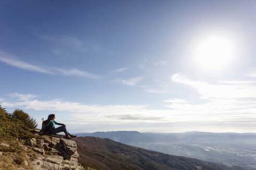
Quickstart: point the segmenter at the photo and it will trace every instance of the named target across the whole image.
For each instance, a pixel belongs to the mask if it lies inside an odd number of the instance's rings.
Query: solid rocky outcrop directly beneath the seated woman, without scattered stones
[[[30,163],[35,170],[61,170],[84,168],[78,163],[79,154],[75,141],[62,135],[43,135],[42,139],[30,139],[26,145],[37,152],[39,157]]]

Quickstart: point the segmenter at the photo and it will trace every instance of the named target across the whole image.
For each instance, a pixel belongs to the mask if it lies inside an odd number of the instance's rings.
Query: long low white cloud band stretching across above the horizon
[[[221,99],[203,104],[189,104],[175,99],[164,109],[150,109],[147,105],[86,105],[58,99],[40,101],[31,94],[15,94],[16,101],[1,102],[3,107],[69,112],[79,122],[104,123],[163,123],[163,122],[247,122],[256,121],[256,101]],[[35,95],[32,95],[35,96]],[[175,103],[174,103],[175,102]]]

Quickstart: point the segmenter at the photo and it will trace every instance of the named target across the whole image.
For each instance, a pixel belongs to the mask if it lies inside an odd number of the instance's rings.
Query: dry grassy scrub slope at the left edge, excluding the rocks
[[[11,170],[19,167],[32,169],[26,166],[25,162],[30,163],[38,155],[31,149],[24,150],[21,145],[24,145],[24,140],[33,137],[37,138],[36,135],[29,132],[28,127],[22,121],[12,118],[0,106],[0,144],[9,145],[0,145],[0,152],[3,153],[0,155],[0,169]]]

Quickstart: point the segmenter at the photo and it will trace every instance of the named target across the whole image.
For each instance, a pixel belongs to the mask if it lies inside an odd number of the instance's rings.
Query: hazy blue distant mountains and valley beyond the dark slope
[[[78,133],[78,136],[109,138],[123,144],[228,167],[256,169],[255,133],[139,133],[137,131]]]

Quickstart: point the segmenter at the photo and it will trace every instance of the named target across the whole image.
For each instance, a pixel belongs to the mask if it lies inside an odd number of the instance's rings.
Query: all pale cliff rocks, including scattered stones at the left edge
[[[17,139],[19,147],[27,153],[25,159],[19,158],[19,152],[13,155],[14,164],[18,170],[84,170],[78,163],[79,154],[75,141],[64,138],[63,135],[42,135],[28,140]],[[0,144],[6,148],[8,144]],[[0,157],[10,158],[8,152],[0,152]],[[0,169],[9,169],[1,167]],[[10,167],[11,169],[13,167]]]

